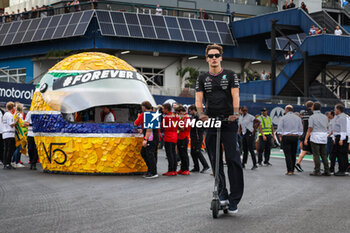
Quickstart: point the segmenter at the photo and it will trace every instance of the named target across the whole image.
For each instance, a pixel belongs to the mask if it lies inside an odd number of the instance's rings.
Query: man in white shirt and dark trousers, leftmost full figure
[[[15,120],[12,115],[12,110],[14,108],[13,102],[8,102],[6,104],[7,112],[2,117],[3,123],[3,132],[2,138],[4,139],[4,157],[3,164],[4,169],[15,169],[11,165],[11,157],[16,149],[16,141],[15,141],[15,125],[18,121],[18,118]]]

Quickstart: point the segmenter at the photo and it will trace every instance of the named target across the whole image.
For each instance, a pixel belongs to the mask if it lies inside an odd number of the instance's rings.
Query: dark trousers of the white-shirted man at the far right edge
[[[335,144],[333,145],[333,151],[332,151],[332,157],[333,161],[331,160],[331,169],[334,169],[335,166],[335,160],[338,159],[339,164],[339,171],[340,172],[346,172],[346,169],[348,168],[348,137],[346,137],[345,140],[343,140],[343,145],[339,145],[340,141],[340,135],[335,136]],[[332,167],[333,166],[333,167]]]

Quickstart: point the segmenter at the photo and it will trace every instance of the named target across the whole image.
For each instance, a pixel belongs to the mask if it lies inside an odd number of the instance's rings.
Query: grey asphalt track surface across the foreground
[[[286,176],[283,159],[271,163],[245,170],[238,214],[218,219],[211,172],[147,180],[1,169],[0,232],[350,232],[349,176],[310,177],[310,161]],[[160,150],[158,172],[166,167]]]

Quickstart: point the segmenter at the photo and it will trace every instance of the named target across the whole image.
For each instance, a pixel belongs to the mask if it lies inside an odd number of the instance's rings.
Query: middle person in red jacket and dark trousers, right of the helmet
[[[177,130],[178,125],[174,126],[171,122],[178,122],[179,118],[178,116],[171,112],[171,105],[169,103],[163,104],[163,113],[165,114],[162,123],[164,128],[164,146],[165,146],[165,153],[168,158],[168,171],[163,174],[163,176],[176,176],[176,168],[177,168],[177,161],[176,161],[176,152],[175,152],[175,146],[177,143]]]

